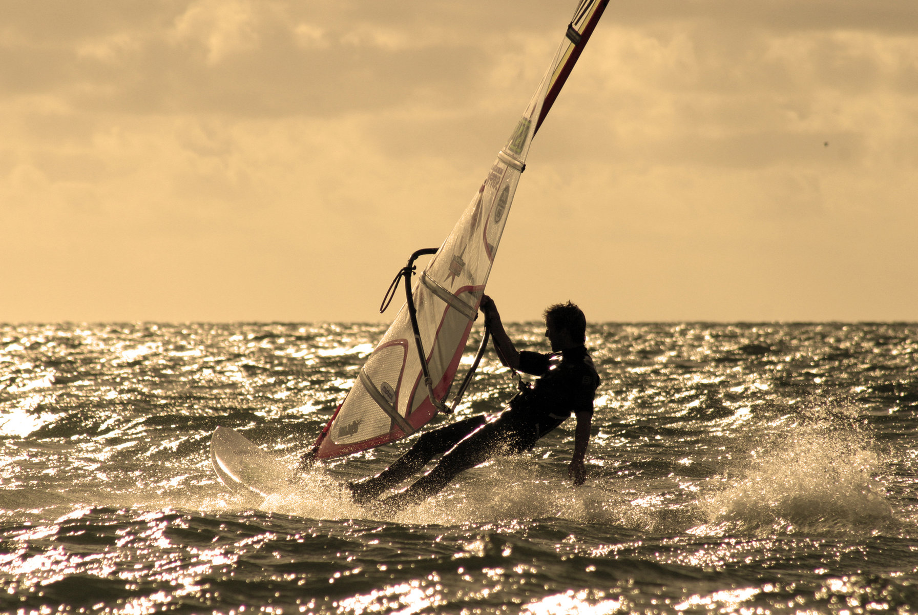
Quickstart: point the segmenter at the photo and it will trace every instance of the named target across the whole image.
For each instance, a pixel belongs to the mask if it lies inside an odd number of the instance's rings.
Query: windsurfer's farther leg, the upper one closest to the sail
[[[421,434],[418,442],[415,442],[408,453],[399,457],[394,464],[372,478],[349,484],[354,501],[363,504],[378,498],[386,489],[416,474],[431,459],[446,453],[456,442],[460,442],[484,424],[485,416],[479,415]]]

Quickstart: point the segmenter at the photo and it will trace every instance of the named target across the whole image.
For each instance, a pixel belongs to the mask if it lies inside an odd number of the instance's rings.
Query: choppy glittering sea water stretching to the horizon
[[[294,465],[382,330],[0,326],[0,611],[918,612],[918,325],[593,325],[585,486],[571,419],[394,517],[341,481],[409,442],[233,498],[211,432]]]

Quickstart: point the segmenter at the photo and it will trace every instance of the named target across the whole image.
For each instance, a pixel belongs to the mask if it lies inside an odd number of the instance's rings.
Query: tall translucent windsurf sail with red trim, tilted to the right
[[[393,442],[446,410],[532,138],[607,4],[608,0],[581,0],[577,5],[565,39],[484,183],[413,285],[415,309],[406,301],[367,357],[351,391],[319,435],[312,451],[315,458]],[[413,258],[409,271],[412,263]]]

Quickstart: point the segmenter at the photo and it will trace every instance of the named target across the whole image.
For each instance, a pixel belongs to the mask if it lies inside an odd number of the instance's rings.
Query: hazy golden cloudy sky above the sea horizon
[[[367,321],[574,0],[7,0],[0,322]],[[918,321],[918,3],[611,0],[532,144],[504,319]]]

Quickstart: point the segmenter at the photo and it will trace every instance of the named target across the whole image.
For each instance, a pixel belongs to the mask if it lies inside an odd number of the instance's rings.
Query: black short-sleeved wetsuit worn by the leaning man
[[[584,346],[551,354],[520,352],[520,371],[540,376],[532,388],[510,400],[497,419],[469,417],[428,431],[386,470],[351,485],[354,500],[369,502],[414,475],[433,457],[445,453],[427,475],[406,490],[380,502],[397,510],[417,504],[447,486],[453,477],[501,454],[522,453],[554,430],[571,413],[593,412],[599,375]]]

